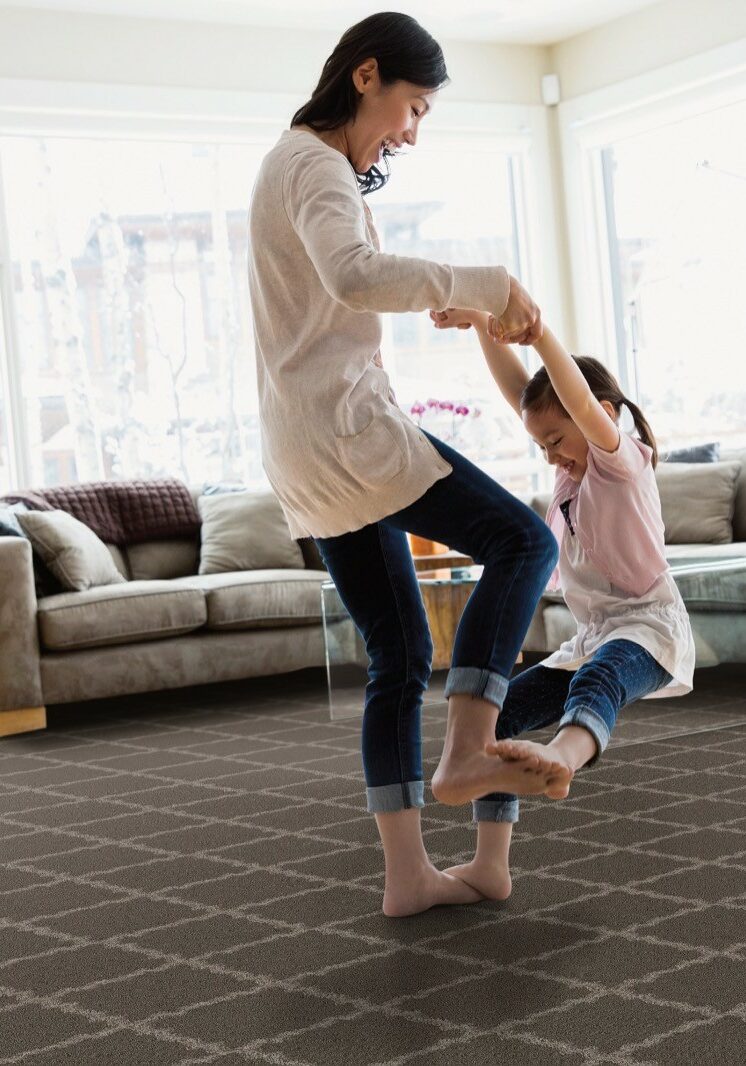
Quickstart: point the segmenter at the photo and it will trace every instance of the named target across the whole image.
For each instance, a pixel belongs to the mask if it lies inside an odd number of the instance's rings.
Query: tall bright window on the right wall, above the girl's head
[[[598,149],[622,387],[663,450],[746,445],[746,100]]]

